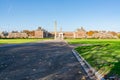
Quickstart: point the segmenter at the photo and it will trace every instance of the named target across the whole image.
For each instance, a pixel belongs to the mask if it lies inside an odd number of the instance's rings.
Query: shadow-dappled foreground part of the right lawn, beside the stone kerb
[[[120,77],[120,57],[117,56],[118,53],[115,53],[116,50],[119,50],[116,45],[80,46],[75,50],[105,78]]]

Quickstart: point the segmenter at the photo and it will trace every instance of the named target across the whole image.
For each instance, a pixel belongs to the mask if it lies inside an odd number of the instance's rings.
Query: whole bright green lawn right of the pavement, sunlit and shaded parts
[[[75,48],[100,74],[120,77],[120,39],[66,39],[69,44],[93,44]]]

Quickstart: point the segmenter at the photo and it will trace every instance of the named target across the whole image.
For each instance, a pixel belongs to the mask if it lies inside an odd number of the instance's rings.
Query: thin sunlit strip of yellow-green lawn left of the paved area
[[[49,39],[0,39],[0,45],[2,44],[20,44],[28,42],[37,42]]]

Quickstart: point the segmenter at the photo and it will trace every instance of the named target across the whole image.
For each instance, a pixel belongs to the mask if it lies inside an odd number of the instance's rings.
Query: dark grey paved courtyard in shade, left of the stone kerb
[[[84,77],[72,48],[65,42],[0,47],[0,80],[82,80]]]

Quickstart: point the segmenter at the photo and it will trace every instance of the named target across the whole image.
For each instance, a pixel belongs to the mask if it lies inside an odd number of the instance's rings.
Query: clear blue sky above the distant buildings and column
[[[0,0],[0,31],[106,30],[120,32],[120,0]]]

